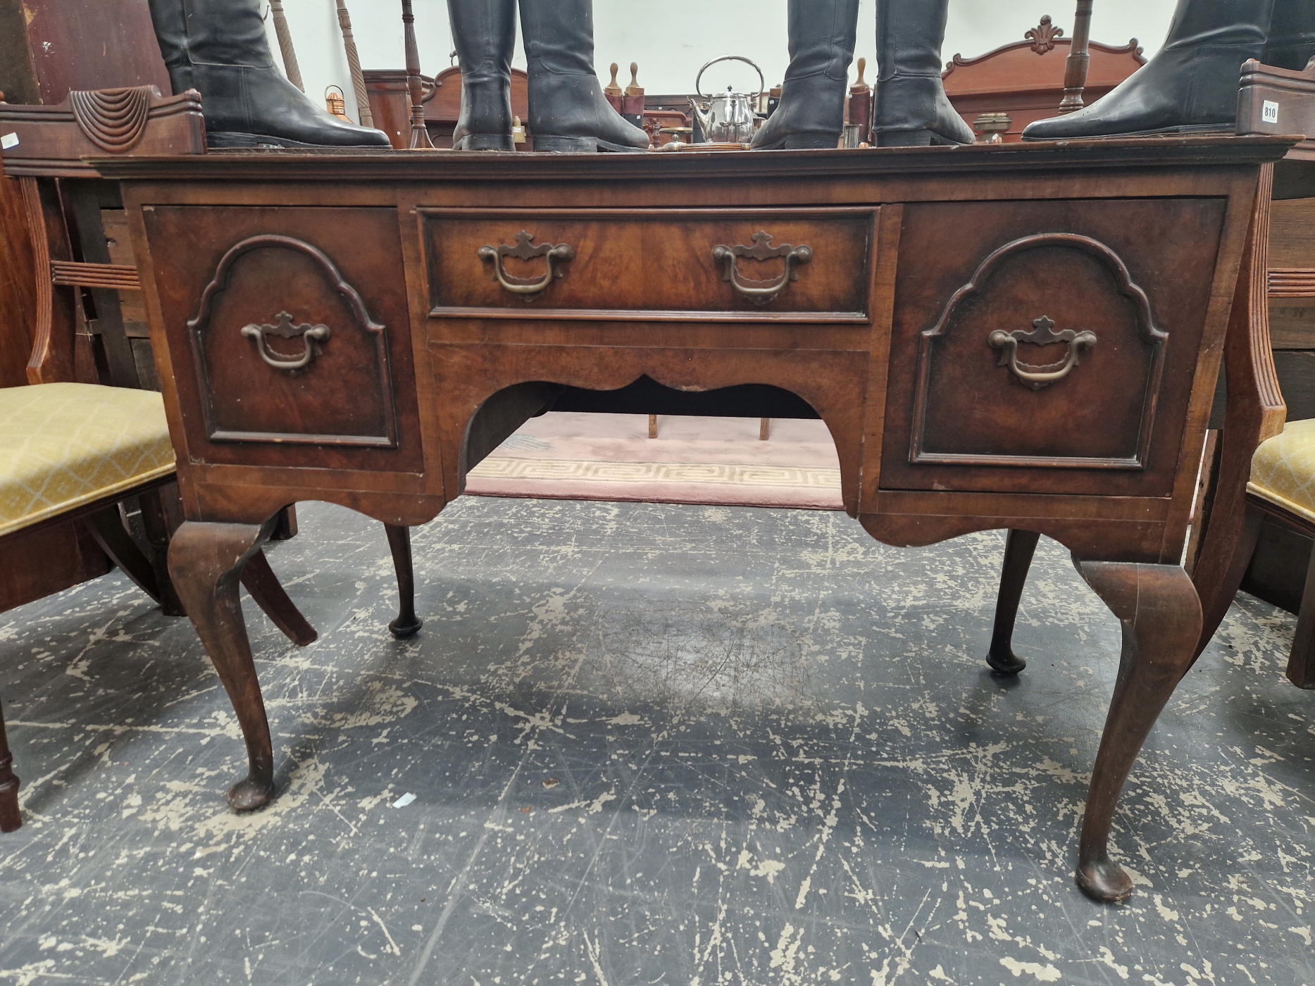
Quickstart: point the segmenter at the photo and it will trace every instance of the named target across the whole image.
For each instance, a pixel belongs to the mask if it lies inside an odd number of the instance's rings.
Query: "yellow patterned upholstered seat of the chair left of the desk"
[[[164,401],[153,390],[0,388],[0,535],[171,472]]]

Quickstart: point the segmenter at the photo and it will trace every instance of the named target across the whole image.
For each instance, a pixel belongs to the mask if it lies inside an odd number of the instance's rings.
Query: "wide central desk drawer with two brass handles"
[[[431,316],[869,318],[877,209],[419,209]]]

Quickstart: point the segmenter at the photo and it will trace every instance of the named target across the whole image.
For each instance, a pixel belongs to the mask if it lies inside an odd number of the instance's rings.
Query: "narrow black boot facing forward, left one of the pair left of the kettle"
[[[515,0],[447,0],[452,45],[462,66],[462,116],[452,130],[459,151],[514,151],[512,51]]]

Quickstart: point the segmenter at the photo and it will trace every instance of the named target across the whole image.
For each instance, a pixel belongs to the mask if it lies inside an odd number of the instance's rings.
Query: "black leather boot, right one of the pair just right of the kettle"
[[[973,143],[940,83],[949,0],[877,0],[878,147]]]

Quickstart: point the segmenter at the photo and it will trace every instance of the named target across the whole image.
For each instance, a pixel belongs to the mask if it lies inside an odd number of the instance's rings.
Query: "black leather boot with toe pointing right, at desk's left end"
[[[201,93],[210,147],[388,147],[317,106],[270,55],[259,0],[150,0],[175,93]]]

